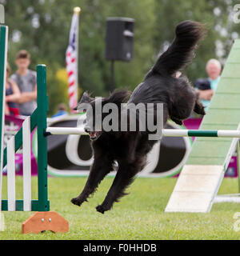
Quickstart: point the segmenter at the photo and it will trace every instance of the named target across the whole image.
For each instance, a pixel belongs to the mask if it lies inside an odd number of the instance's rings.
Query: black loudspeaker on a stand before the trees
[[[130,61],[133,58],[133,44],[133,18],[106,18],[106,59]]]

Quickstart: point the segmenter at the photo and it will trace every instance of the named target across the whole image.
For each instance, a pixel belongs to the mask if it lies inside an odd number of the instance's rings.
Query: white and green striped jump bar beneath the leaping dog
[[[81,134],[88,135],[82,127],[48,127],[46,134]],[[240,138],[240,130],[181,130],[163,129],[165,137],[222,137]]]

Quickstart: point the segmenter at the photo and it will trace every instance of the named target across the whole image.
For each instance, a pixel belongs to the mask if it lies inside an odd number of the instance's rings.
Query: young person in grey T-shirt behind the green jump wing
[[[11,78],[17,83],[21,92],[19,98],[19,110],[22,115],[30,115],[37,107],[37,84],[36,72],[29,70],[30,54],[26,50],[20,50],[15,61],[18,70]]]

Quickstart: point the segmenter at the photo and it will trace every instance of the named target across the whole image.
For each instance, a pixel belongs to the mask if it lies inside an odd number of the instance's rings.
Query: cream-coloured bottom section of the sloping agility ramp
[[[209,212],[223,175],[222,166],[184,166],[165,211]]]

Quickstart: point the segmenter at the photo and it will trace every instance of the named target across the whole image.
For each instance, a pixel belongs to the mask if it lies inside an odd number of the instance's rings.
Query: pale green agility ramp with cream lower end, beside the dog
[[[199,130],[239,130],[239,122],[240,39],[230,50]],[[196,138],[165,211],[210,212],[237,143],[238,138]]]

